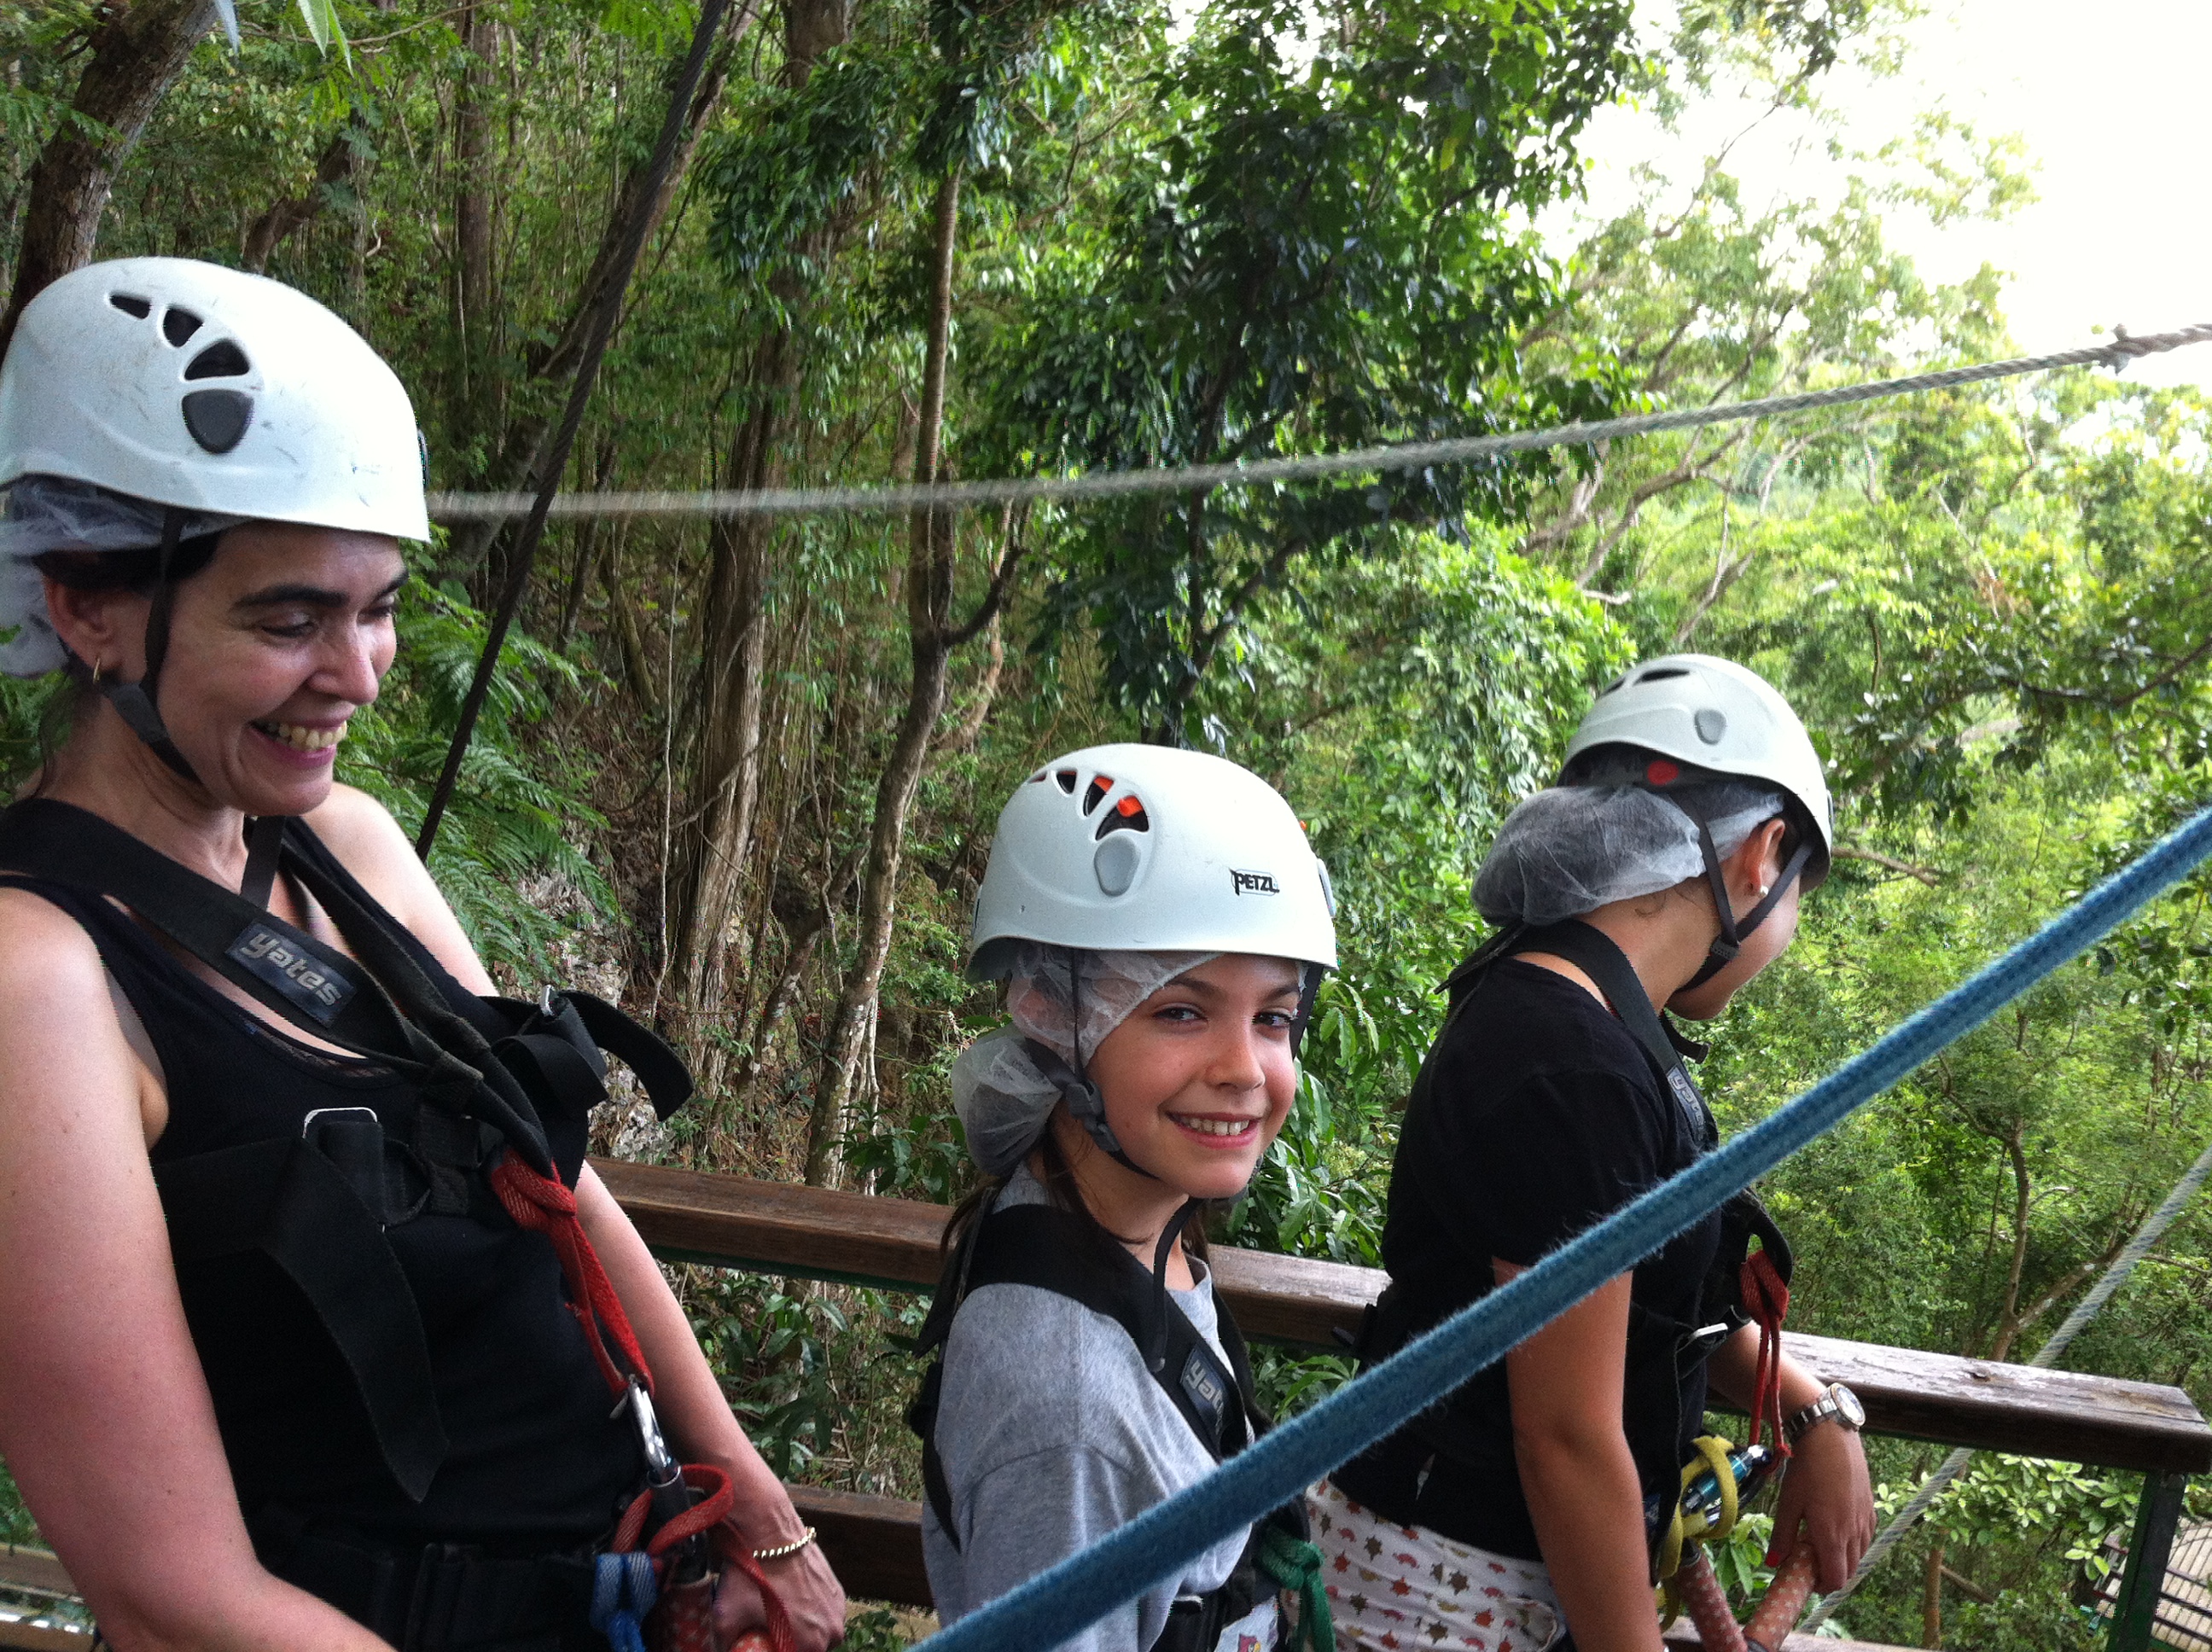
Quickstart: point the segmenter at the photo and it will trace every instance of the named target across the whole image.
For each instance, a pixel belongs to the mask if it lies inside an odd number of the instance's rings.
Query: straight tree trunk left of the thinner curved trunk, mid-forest
[[[792,0],[785,9],[783,82],[803,86],[814,60],[843,44],[852,27],[845,0]],[[807,263],[834,254],[841,228],[807,239]],[[796,281],[781,292],[785,312],[805,303]],[[754,345],[748,367],[750,409],[730,438],[723,487],[768,489],[783,482],[783,445],[792,433],[801,378],[799,341],[779,327]],[[776,524],[768,517],[717,517],[706,606],[699,617],[703,672],[701,732],[692,803],[697,818],[677,847],[677,922],[670,940],[668,997],[679,1033],[699,1066],[699,1084],[714,1090],[723,1053],[699,1037],[728,995],[728,931],[745,885],[754,814],[761,796],[761,661],[768,644],[768,553]]]

